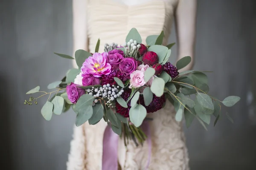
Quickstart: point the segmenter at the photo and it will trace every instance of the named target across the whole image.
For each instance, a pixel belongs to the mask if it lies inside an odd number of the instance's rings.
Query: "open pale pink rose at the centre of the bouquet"
[[[145,85],[143,71],[136,70],[136,71],[132,72],[130,77],[131,77],[131,79],[130,79],[129,88],[139,88],[139,87]]]

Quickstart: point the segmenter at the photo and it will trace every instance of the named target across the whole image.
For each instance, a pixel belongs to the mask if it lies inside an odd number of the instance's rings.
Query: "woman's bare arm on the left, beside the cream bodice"
[[[73,0],[73,56],[76,50],[88,50],[87,0]],[[73,66],[77,68],[76,61]]]

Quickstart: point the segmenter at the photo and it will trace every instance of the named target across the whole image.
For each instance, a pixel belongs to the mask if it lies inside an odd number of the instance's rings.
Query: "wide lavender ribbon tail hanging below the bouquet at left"
[[[119,136],[108,125],[103,136],[102,170],[118,169],[118,139]]]

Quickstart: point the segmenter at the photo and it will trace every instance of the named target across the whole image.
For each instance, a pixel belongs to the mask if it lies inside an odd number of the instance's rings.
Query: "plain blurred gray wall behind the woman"
[[[214,71],[208,74],[211,94],[219,99],[237,95],[241,101],[223,110],[234,124],[223,116],[216,127],[212,119],[208,131],[197,121],[184,127],[192,170],[256,169],[255,9],[253,0],[198,0],[195,70]],[[175,31],[169,41],[175,42]],[[23,105],[26,91],[36,85],[47,90],[72,68],[53,52],[72,54],[71,0],[0,2],[0,160],[5,169],[66,169],[75,114],[47,122],[40,114],[45,100]]]

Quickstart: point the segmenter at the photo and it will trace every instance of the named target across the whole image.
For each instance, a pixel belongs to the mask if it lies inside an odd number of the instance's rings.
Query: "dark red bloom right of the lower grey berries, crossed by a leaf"
[[[124,91],[124,93],[122,93],[122,98],[126,101],[129,96],[131,94],[131,89],[127,89],[126,91]],[[120,115],[124,116],[124,117],[129,117],[129,111],[131,108],[131,100],[127,103],[128,108],[124,108],[122,107],[118,102],[116,102],[116,113],[119,113]]]

